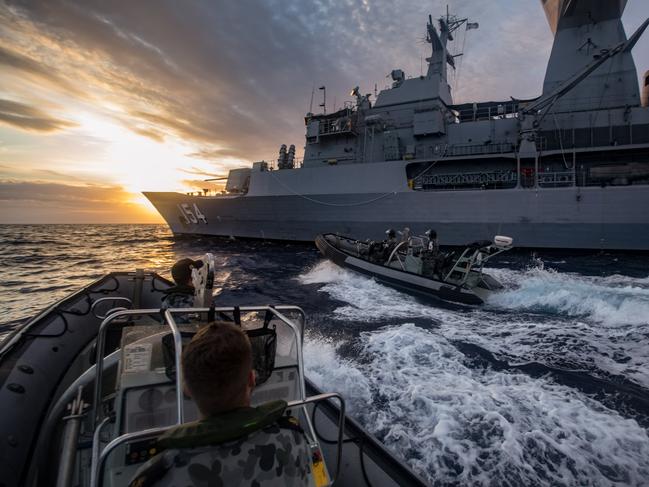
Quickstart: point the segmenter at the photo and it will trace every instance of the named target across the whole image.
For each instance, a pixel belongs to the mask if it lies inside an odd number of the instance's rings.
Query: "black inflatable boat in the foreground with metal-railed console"
[[[209,285],[210,276],[203,281]],[[304,377],[306,320],[300,308],[197,307],[161,313],[163,292],[171,285],[154,273],[114,272],[2,341],[0,485],[128,485],[156,453],[157,437],[172,425],[196,419],[174,371],[183,339],[215,313],[246,330],[276,330],[272,370],[255,389],[253,405],[271,399],[289,403],[314,452],[324,457],[318,485],[426,485],[345,416],[340,395],[323,393]],[[211,291],[203,289],[197,299],[211,302]],[[189,316],[190,323],[177,323],[179,315]]]

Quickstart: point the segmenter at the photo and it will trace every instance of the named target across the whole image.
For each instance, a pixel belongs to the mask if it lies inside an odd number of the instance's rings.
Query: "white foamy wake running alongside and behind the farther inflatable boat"
[[[453,340],[474,343],[510,363],[598,369],[649,387],[649,293],[646,279],[586,277],[542,266],[487,269],[506,290],[483,307],[451,310],[423,304],[328,261],[299,279],[345,304],[333,317],[354,323],[429,320]],[[625,323],[626,320],[626,323]]]

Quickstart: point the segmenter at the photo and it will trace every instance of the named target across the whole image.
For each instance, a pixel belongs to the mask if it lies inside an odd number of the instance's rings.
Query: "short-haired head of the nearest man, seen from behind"
[[[240,327],[225,322],[202,327],[183,348],[182,368],[185,392],[203,417],[250,406],[252,347]]]

